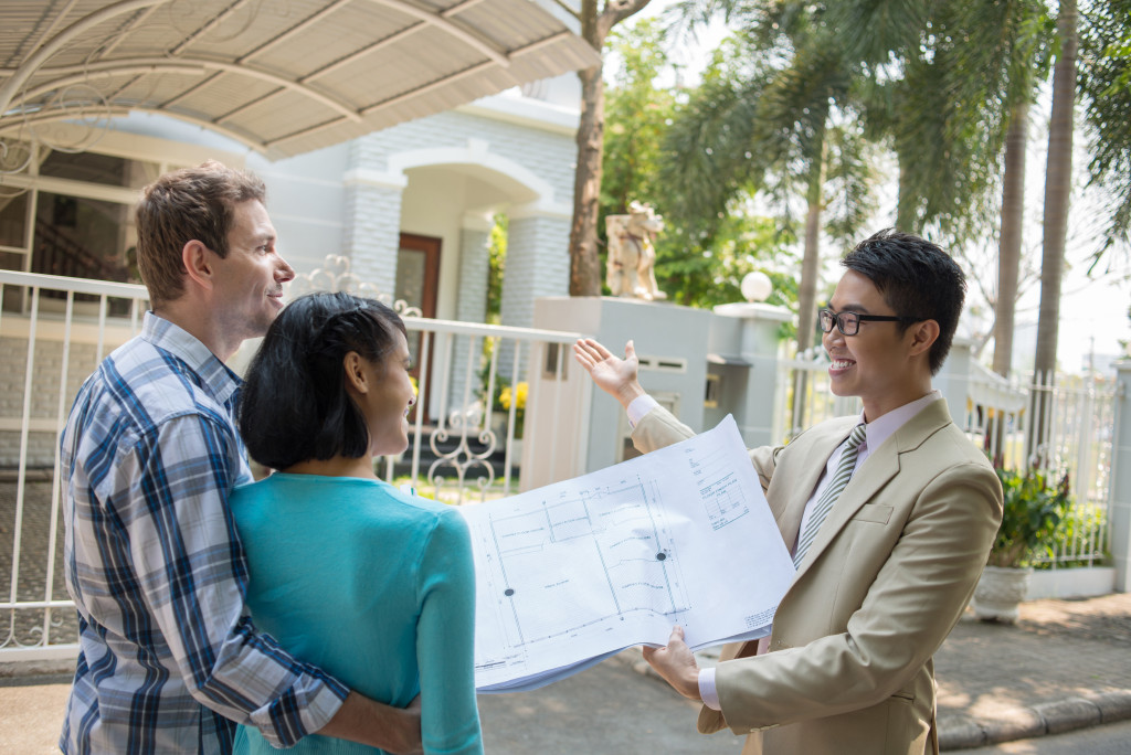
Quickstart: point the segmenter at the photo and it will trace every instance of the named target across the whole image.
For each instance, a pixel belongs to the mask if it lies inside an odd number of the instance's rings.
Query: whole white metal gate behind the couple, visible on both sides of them
[[[0,579],[8,578],[0,662],[70,658],[77,619],[61,567],[59,437],[83,380],[140,329],[147,294],[143,286],[0,271]],[[533,436],[538,418],[517,401],[500,411],[491,399],[503,383],[560,392],[560,381],[526,380],[527,365],[578,333],[404,320],[417,342],[429,416],[415,413],[408,451],[381,460],[378,472],[454,504],[516,493],[523,470],[546,455],[520,439],[524,425]],[[563,405],[571,396],[549,398],[558,410],[579,411]]]

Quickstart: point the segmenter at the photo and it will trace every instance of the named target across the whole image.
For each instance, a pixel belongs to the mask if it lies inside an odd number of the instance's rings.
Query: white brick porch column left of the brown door
[[[404,173],[354,168],[345,175],[346,211],[343,253],[362,283],[390,297],[397,283],[400,246],[400,199],[408,185]]]

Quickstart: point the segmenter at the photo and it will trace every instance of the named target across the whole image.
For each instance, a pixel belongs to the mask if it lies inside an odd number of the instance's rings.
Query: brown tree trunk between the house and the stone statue
[[[570,296],[601,296],[597,215],[605,141],[605,84],[601,73],[599,66],[578,71],[581,79],[581,122],[577,128],[573,222],[569,232]]]

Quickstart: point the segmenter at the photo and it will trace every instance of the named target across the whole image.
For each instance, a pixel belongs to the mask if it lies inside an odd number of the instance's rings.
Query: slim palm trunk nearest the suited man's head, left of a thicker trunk
[[[1013,365],[1013,314],[1021,267],[1021,225],[1025,219],[1025,149],[1029,131],[1029,103],[1010,109],[1002,176],[1001,237],[998,242],[998,301],[994,304],[993,371],[1009,378]]]

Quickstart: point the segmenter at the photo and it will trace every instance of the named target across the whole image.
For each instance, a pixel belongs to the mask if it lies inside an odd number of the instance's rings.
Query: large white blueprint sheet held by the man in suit
[[[769,633],[793,564],[734,419],[576,479],[460,509],[475,684],[547,684],[674,624],[692,649]]]

